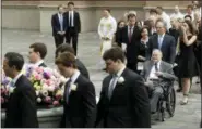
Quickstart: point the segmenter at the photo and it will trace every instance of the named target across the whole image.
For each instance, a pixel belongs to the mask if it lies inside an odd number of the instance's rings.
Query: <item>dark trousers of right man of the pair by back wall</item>
[[[66,42],[71,44],[71,41],[76,55],[78,54],[78,33],[75,31],[74,27],[68,28],[68,31],[66,35]]]

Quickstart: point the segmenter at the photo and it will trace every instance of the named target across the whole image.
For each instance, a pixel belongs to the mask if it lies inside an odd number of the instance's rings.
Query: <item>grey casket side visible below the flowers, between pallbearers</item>
[[[59,128],[63,107],[44,108],[37,111],[39,128]],[[1,111],[1,127],[4,127],[5,112]]]

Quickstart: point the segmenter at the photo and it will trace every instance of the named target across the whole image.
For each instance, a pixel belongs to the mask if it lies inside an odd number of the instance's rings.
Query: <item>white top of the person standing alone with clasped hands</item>
[[[103,17],[98,25],[98,34],[99,37],[107,37],[110,40],[112,40],[114,35],[117,30],[117,22],[112,16],[109,17]]]

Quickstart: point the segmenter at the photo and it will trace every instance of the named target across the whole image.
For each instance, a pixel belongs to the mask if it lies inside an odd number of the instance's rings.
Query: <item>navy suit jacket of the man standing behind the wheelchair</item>
[[[158,35],[154,35],[148,39],[147,60],[152,56],[152,51],[158,49]],[[163,61],[173,64],[176,57],[176,40],[173,36],[165,34],[161,51]]]

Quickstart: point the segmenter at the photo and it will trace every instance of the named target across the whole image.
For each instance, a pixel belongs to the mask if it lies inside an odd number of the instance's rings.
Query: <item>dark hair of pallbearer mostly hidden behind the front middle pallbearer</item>
[[[70,53],[72,53],[72,54],[74,54],[75,55],[75,52],[74,52],[74,49],[70,46],[70,44],[68,44],[68,43],[62,43],[62,44],[60,44],[57,49],[56,49],[56,57],[58,56],[58,53],[59,52],[70,52]]]

